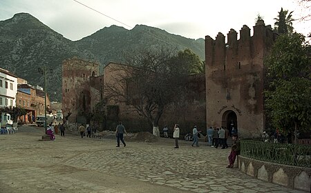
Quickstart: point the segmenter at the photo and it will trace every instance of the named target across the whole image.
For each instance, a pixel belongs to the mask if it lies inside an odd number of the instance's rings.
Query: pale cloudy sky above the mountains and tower
[[[19,12],[28,12],[70,40],[79,40],[112,25],[131,30],[137,24],[166,30],[191,39],[227,35],[243,25],[251,29],[258,14],[265,25],[283,7],[294,11],[293,18],[305,15],[299,0],[0,0],[0,21]],[[84,4],[84,6],[82,5]],[[86,7],[88,6],[88,8]],[[309,9],[310,13],[311,10]],[[294,21],[297,32],[310,32],[311,21]]]

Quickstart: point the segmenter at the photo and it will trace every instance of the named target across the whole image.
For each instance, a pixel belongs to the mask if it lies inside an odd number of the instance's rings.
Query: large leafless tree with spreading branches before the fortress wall
[[[105,95],[115,103],[127,103],[133,111],[153,125],[160,136],[158,123],[164,107],[181,96],[189,74],[189,61],[174,55],[174,50],[140,50],[126,56],[129,65],[106,67],[113,81],[104,85]]]

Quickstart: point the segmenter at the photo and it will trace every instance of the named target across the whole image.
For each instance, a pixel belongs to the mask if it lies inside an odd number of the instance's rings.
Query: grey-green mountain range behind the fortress
[[[78,41],[66,39],[28,13],[0,21],[0,67],[31,85],[44,85],[39,68],[47,69],[47,92],[51,101],[62,101],[62,61],[77,57],[97,61],[100,69],[110,61],[124,62],[126,50],[160,47],[191,49],[204,60],[204,39],[189,39],[150,26],[132,30],[120,26],[102,28]]]

